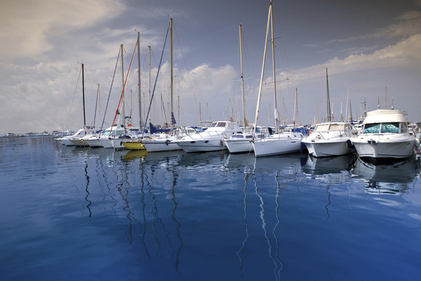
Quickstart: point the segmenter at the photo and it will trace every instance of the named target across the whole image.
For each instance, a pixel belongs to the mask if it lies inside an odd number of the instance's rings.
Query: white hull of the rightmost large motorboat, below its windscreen
[[[413,155],[415,148],[415,139],[411,136],[389,139],[359,138],[353,139],[353,143],[359,157],[367,158],[404,159]]]

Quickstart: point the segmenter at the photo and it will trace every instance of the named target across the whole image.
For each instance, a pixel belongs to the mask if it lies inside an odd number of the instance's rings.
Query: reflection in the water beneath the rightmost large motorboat
[[[358,159],[352,174],[366,185],[367,193],[402,195],[408,192],[420,170],[420,158],[414,155],[392,164],[374,164]]]

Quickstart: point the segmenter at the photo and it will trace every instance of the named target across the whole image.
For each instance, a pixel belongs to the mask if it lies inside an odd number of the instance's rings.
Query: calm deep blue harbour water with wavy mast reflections
[[[0,138],[1,280],[419,280],[420,159]]]

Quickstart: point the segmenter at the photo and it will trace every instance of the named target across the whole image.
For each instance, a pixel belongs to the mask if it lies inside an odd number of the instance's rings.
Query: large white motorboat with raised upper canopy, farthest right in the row
[[[361,158],[406,159],[413,155],[415,136],[402,110],[374,110],[363,122],[363,132],[351,138]]]

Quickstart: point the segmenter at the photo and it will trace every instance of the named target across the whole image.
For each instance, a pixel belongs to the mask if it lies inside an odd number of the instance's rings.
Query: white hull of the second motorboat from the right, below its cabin
[[[314,143],[302,140],[302,143],[304,143],[307,150],[309,150],[309,155],[313,155],[314,157],[340,156],[354,152],[354,148],[349,148],[347,140],[345,139],[342,141],[319,141]]]

